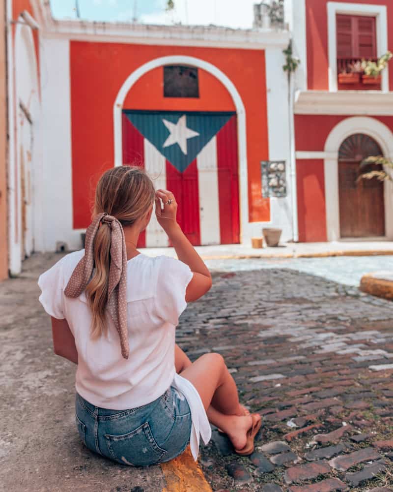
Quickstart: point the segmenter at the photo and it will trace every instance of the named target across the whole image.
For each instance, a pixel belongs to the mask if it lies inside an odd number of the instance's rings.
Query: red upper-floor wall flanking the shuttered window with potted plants
[[[388,49],[393,51],[393,1],[346,0],[388,7]],[[328,0],[306,0],[307,75],[310,90],[328,90]],[[393,62],[389,64],[390,90],[393,91]]]

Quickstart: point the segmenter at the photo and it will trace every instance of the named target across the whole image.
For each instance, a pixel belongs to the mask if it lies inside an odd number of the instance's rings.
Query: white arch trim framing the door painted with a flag
[[[240,192],[240,242],[243,242],[246,224],[248,224],[249,201],[248,201],[248,172],[247,172],[247,145],[246,145],[246,111],[242,98],[233,82],[219,68],[209,62],[195,57],[174,55],[156,58],[144,63],[132,72],[124,81],[113,104],[113,139],[114,139],[114,165],[121,166],[122,159],[122,124],[121,115],[123,103],[127,93],[132,86],[150,70],[168,64],[193,65],[214,75],[226,88],[232,97],[237,114],[237,134],[239,149],[239,192]]]

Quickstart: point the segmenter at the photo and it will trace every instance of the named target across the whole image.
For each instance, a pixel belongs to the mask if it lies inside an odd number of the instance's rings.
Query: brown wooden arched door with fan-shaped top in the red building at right
[[[338,199],[341,238],[385,236],[384,185],[359,177],[359,165],[370,155],[382,155],[371,137],[355,133],[338,151]],[[376,166],[372,166],[376,170]]]

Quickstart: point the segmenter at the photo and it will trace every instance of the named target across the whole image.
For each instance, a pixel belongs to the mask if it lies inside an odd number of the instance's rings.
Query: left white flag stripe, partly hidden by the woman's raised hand
[[[143,140],[143,149],[144,167],[153,180],[155,189],[167,189],[166,158],[158,152],[147,138]],[[157,222],[155,211],[153,210],[149,225],[146,227],[146,247],[156,246],[168,246],[168,236]]]

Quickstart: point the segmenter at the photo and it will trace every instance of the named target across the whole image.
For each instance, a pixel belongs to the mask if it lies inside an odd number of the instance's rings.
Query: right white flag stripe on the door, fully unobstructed
[[[198,154],[197,168],[200,244],[219,245],[221,237],[216,137]]]

